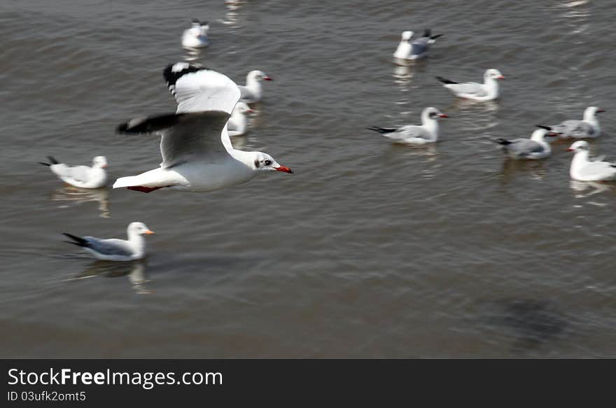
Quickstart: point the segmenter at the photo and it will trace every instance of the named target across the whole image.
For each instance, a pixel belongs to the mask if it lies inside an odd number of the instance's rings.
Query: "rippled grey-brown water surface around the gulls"
[[[604,1],[20,0],[0,3],[2,357],[614,357],[616,186],[571,183],[568,143],[509,162],[494,137],[605,108],[591,142],[616,158]],[[193,17],[211,46],[180,47]],[[444,34],[391,62],[400,31]],[[265,100],[235,140],[295,174],[204,194],[62,187],[45,155],[111,177],[155,167],[155,139],[114,134],[171,112],[169,62]],[[433,77],[507,80],[491,104]],[[369,125],[449,114],[437,146],[393,146]],[[60,232],[158,232],[136,264],[94,262]],[[151,238],[151,239],[150,239]]]

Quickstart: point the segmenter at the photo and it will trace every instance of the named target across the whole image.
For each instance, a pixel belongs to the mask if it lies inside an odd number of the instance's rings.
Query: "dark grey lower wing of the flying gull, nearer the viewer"
[[[229,116],[223,111],[204,111],[137,118],[120,125],[118,132],[161,134],[160,166],[164,168],[190,160],[224,162],[230,157],[225,146]]]

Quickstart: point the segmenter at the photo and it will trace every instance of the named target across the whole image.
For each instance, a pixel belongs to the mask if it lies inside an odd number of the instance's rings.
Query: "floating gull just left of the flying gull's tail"
[[[99,188],[107,182],[107,159],[104,156],[94,157],[92,167],[68,166],[60,163],[51,156],[47,156],[50,163],[38,162],[49,166],[53,174],[58,176],[64,183],[80,188]]]

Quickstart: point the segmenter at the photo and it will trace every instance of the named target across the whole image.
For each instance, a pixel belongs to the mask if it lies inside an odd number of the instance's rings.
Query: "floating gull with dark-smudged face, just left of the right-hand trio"
[[[406,125],[393,127],[368,127],[374,132],[392,139],[394,143],[426,144],[434,143],[438,139],[438,118],[449,118],[437,108],[425,108],[421,112],[421,126]]]

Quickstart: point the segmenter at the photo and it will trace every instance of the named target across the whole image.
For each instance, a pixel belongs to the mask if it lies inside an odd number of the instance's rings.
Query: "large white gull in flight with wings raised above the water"
[[[163,76],[178,102],[176,113],[136,118],[117,129],[161,134],[162,163],[138,176],[118,178],[113,188],[214,191],[246,183],[262,171],[293,173],[266,153],[233,148],[226,124],[240,92],[227,76],[186,62],[169,64]]]

